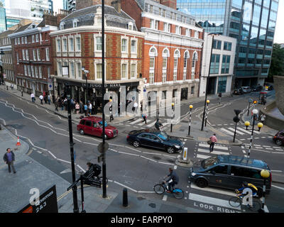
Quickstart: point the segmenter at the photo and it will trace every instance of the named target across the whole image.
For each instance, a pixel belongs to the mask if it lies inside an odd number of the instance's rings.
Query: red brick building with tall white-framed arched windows
[[[145,88],[156,92],[160,100],[167,91],[180,92],[181,100],[197,97],[200,82],[204,31],[195,18],[177,11],[174,2],[121,0],[121,9],[145,33]]]

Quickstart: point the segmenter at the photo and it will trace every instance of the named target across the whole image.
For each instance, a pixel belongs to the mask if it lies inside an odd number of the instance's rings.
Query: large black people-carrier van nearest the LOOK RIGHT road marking
[[[239,189],[242,182],[249,182],[258,188],[258,196],[263,192],[261,170],[268,170],[270,177],[266,181],[266,192],[271,189],[271,170],[262,160],[234,155],[215,155],[190,168],[190,181],[198,187],[222,187]]]

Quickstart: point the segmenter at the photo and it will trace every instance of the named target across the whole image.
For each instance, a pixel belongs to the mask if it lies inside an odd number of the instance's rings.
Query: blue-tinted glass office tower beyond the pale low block
[[[236,38],[234,87],[263,85],[271,65],[278,0],[178,0],[205,31]]]

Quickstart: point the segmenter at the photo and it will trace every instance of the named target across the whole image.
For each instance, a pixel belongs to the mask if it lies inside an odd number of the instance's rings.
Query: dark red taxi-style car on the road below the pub
[[[102,118],[96,116],[89,116],[82,118],[80,123],[77,125],[77,131],[80,131],[81,135],[89,134],[102,137]],[[109,126],[105,121],[105,136],[107,139],[114,138],[119,134],[119,131],[114,126]]]

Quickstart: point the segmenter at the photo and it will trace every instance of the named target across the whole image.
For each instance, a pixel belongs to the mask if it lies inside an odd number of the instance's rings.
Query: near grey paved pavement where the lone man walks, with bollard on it
[[[0,162],[0,182],[2,182],[0,213],[20,211],[28,205],[32,188],[39,189],[41,194],[54,184],[58,198],[58,212],[72,213],[72,190],[67,191],[67,187],[70,187],[71,183],[29,157],[28,153],[31,148],[24,140],[20,140],[21,145],[19,146],[16,146],[16,143],[16,135],[13,135],[5,126],[1,126],[0,147],[3,149],[0,150],[0,155],[4,156],[6,148],[13,150],[16,174],[9,173],[7,165]],[[128,192],[128,206],[123,206],[122,190],[121,192],[112,190],[115,185],[111,182],[107,186],[107,198],[102,198],[102,188],[84,185],[84,210],[87,213],[204,213],[204,211],[173,204],[162,199],[146,199],[141,194],[133,192]],[[77,189],[77,199],[81,212],[80,186]]]

